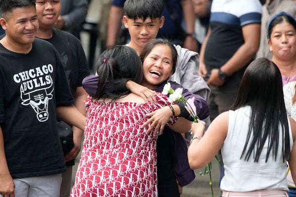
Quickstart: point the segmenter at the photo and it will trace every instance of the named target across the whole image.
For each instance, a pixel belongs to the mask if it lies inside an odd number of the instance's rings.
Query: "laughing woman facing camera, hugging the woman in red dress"
[[[141,96],[143,99],[155,101],[156,92],[162,92],[164,85],[170,82],[173,89],[183,88],[180,84],[168,81],[175,72],[177,64],[177,51],[174,45],[167,39],[153,39],[143,48],[140,55],[143,62],[143,81],[135,80],[122,81],[116,86],[117,90],[131,92]],[[83,87],[90,95],[95,95],[99,76],[90,75],[83,80]],[[127,89],[128,88],[128,89]],[[209,116],[209,107],[205,99],[199,95],[190,93],[183,88],[182,94],[185,99],[194,98],[196,114],[200,119]],[[185,117],[193,121],[185,109],[182,102],[172,104],[173,110],[169,106],[157,109],[147,114],[151,118],[144,123],[150,124],[150,129],[154,126],[161,135],[157,138],[157,181],[159,197],[180,197],[182,187],[194,180],[194,171],[190,169],[187,159],[187,147],[185,140],[180,133],[172,132],[169,127],[165,127],[171,116]],[[181,131],[182,132],[182,131]],[[177,179],[177,181],[176,181]]]

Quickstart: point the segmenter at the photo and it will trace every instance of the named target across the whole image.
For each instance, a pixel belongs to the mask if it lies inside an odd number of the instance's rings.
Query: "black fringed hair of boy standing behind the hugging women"
[[[123,6],[125,15],[130,19],[161,18],[164,9],[163,0],[126,0]]]

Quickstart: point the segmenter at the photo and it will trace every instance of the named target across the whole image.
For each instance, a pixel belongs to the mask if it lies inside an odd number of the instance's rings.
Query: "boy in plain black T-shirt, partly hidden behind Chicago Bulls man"
[[[69,32],[53,28],[60,16],[61,6],[62,3],[60,0],[36,1],[36,11],[39,21],[37,37],[50,42],[57,49],[66,71],[71,93],[75,99],[75,106],[80,113],[86,115],[83,101],[87,98],[88,94],[82,88],[82,80],[89,75],[89,69],[80,40]],[[74,165],[74,159],[80,151],[83,131],[73,127],[73,132],[74,148],[64,156],[67,171],[62,174],[60,197],[70,196],[72,166]]]

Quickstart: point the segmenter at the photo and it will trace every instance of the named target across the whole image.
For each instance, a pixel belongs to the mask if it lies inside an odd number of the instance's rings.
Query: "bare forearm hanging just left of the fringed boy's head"
[[[123,7],[111,6],[106,40],[107,48],[117,44],[117,37],[120,31],[123,13]]]

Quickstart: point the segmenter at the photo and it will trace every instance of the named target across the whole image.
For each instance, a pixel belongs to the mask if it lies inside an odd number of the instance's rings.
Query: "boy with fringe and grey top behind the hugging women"
[[[127,46],[132,47],[141,54],[143,47],[150,40],[155,39],[160,28],[164,24],[164,2],[162,0],[126,0],[123,6],[125,15],[123,22],[130,33],[130,42]],[[176,46],[178,62],[176,72],[170,80],[176,81],[194,94],[208,99],[210,88],[204,79],[198,74],[198,53]]]

